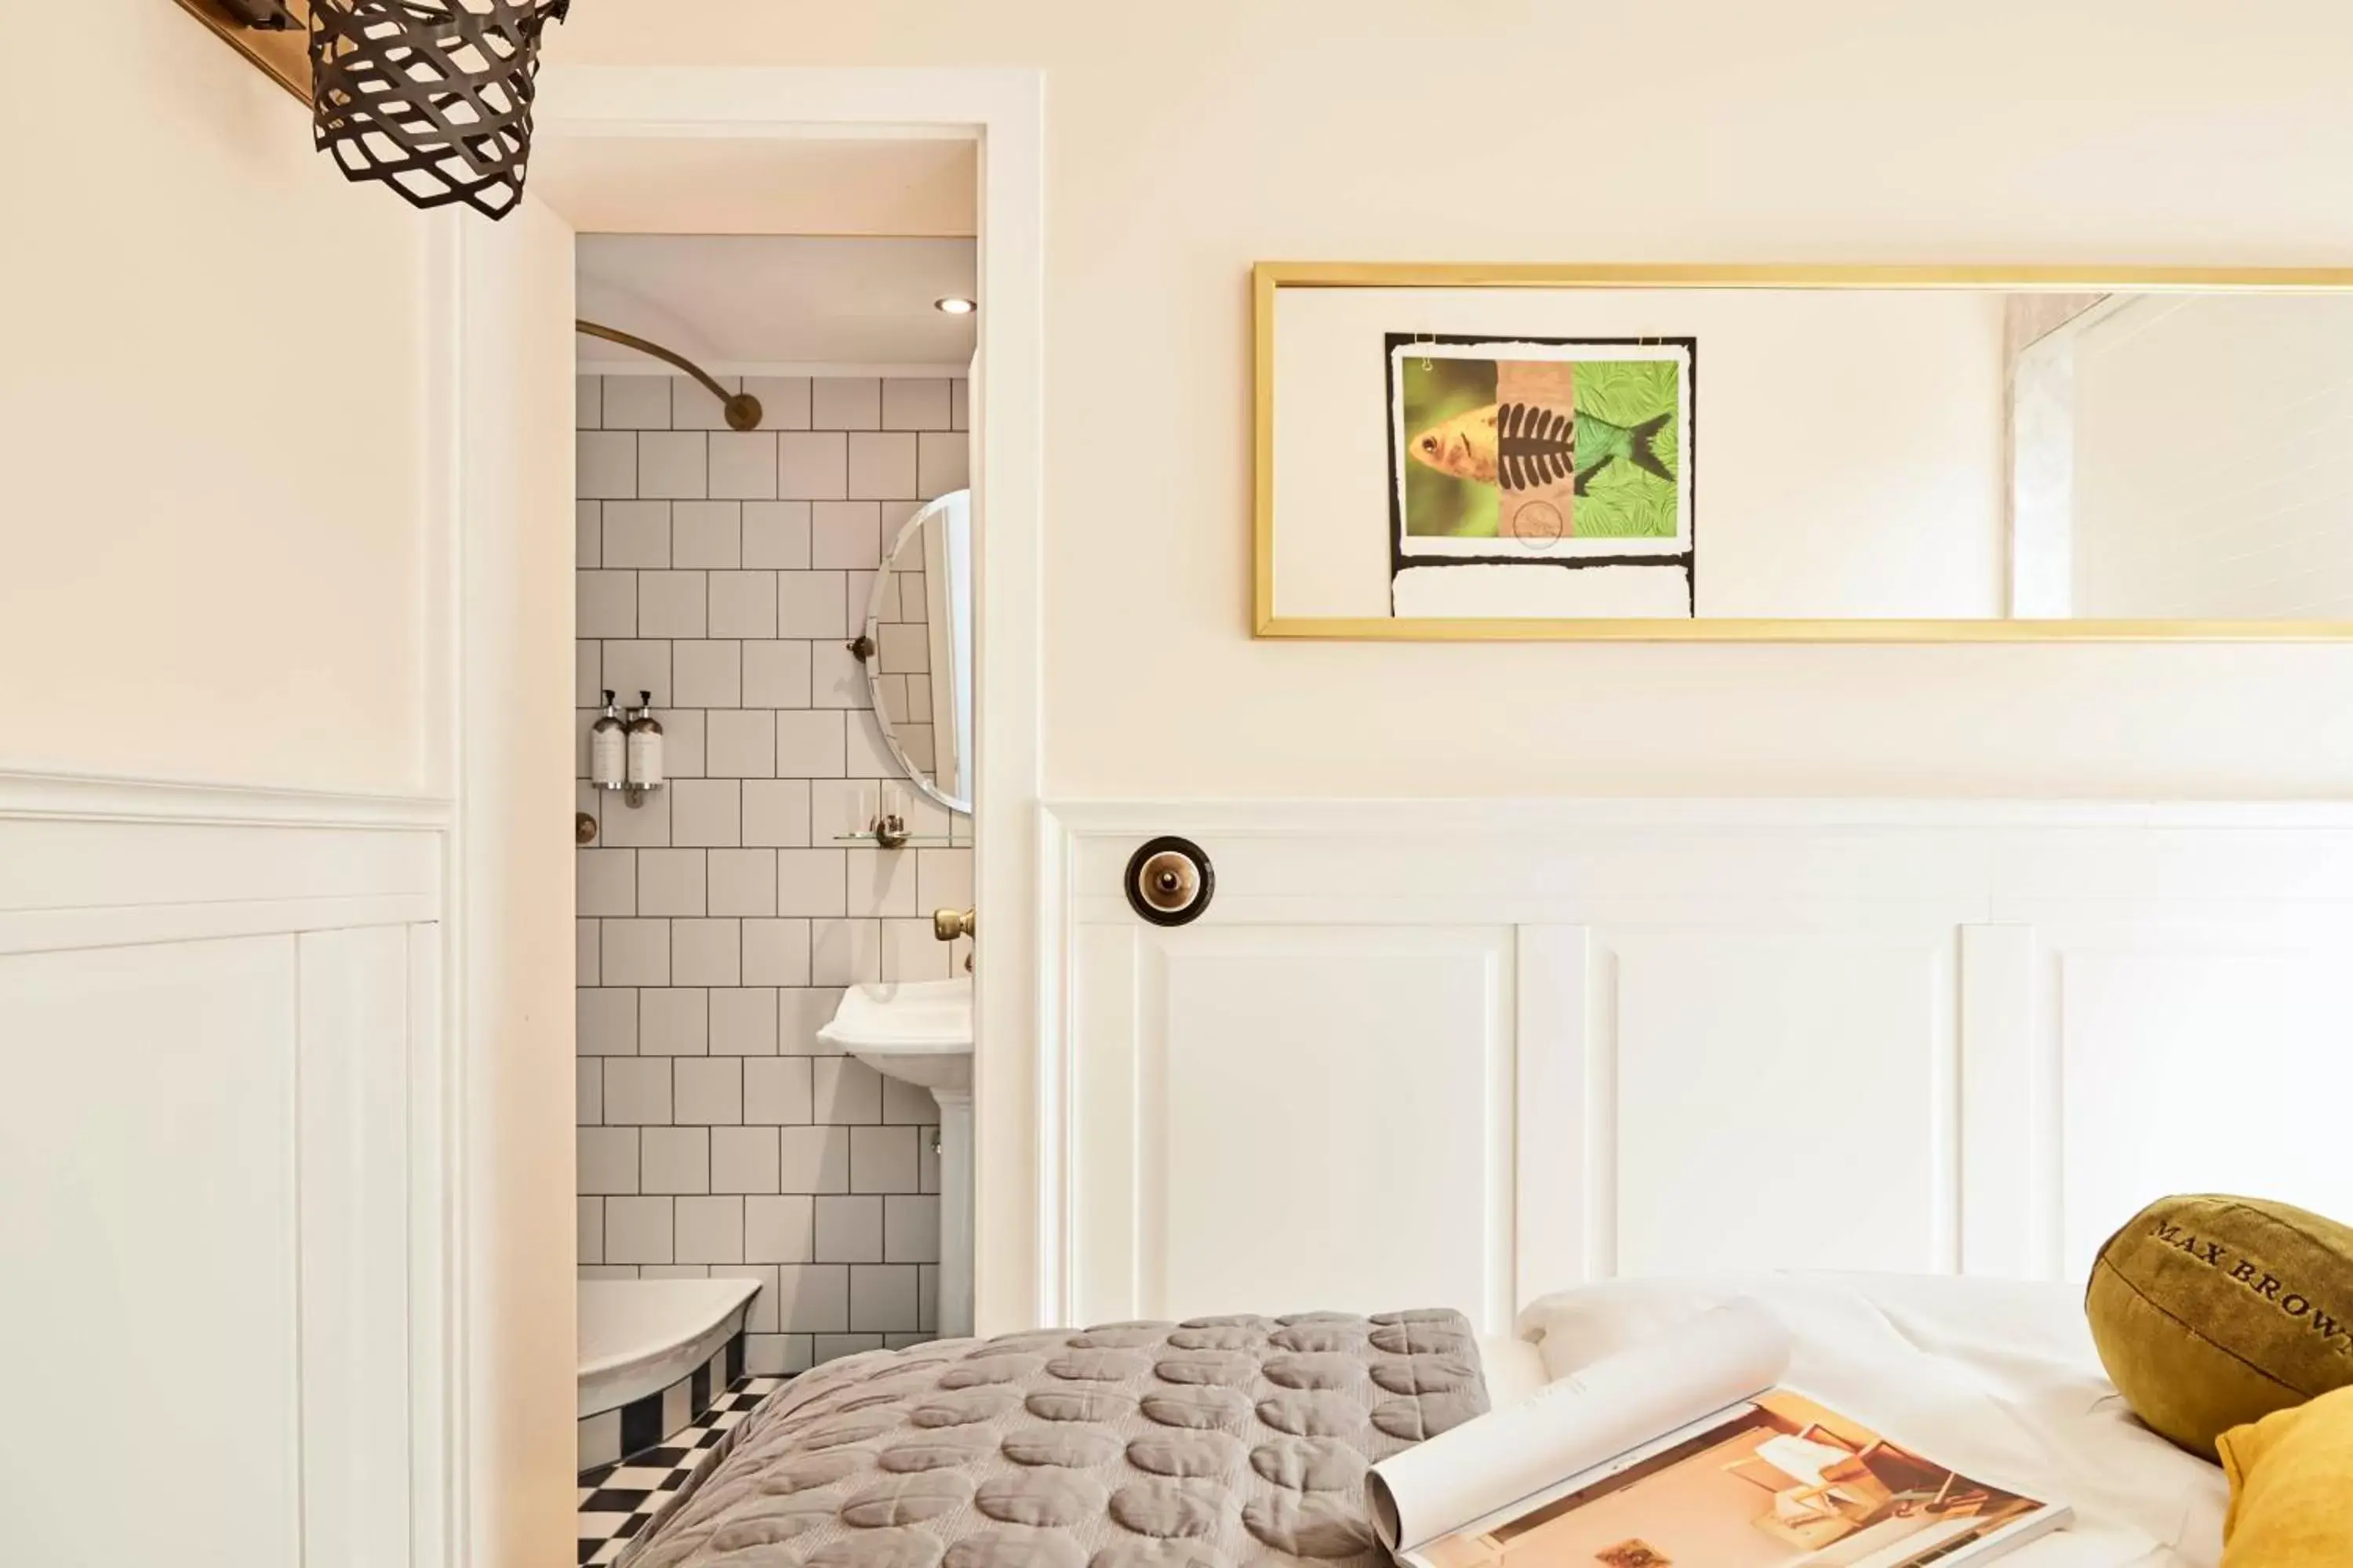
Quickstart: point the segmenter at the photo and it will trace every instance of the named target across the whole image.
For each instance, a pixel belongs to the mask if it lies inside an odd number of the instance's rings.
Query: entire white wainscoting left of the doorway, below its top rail
[[[442,1561],[435,818],[0,776],[0,1559]]]

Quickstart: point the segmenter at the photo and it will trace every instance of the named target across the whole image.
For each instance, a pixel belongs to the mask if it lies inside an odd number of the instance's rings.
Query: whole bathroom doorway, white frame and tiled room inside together
[[[527,1554],[546,1544],[548,1505],[574,1500],[569,1462],[562,1490],[548,1486],[558,1420],[567,1460],[584,1458],[581,1356],[562,1356],[565,1406],[548,1399],[551,1349],[572,1349],[551,1307],[562,1300],[569,1326],[579,1274],[751,1286],[741,1321],[729,1309],[715,1324],[718,1345],[664,1347],[675,1382],[612,1422],[621,1450],[649,1429],[673,1436],[680,1406],[734,1373],[781,1378],[967,1328],[974,1293],[984,1328],[1033,1321],[1047,1298],[1035,992],[1019,940],[1038,783],[1035,80],[551,71],[544,89],[544,205],[461,247],[452,433],[466,520],[456,877],[480,910],[461,961],[539,973],[527,947],[551,931],[525,907],[529,889],[579,858],[576,910],[560,910],[565,980],[581,980],[560,1063],[562,1145],[576,1147],[562,1248],[541,1229],[551,1171],[525,1154],[555,1131],[546,997],[475,985],[464,1001],[466,1143],[480,1159],[456,1265],[475,1302],[475,1415],[456,1441],[473,1446],[461,1462],[475,1540]],[[786,101],[793,122],[776,125]],[[901,155],[908,179],[889,172]],[[939,179],[951,165],[962,223],[908,221],[953,188]],[[831,284],[793,294],[788,277]],[[960,299],[976,313],[939,308]],[[694,371],[576,339],[581,317]],[[579,409],[560,433],[560,522],[558,433],[544,428],[555,386],[576,388]],[[753,423],[729,421],[744,395],[762,404]],[[499,527],[508,508],[520,529]],[[551,616],[551,590],[576,609]],[[562,642],[541,646],[534,628],[551,623]],[[574,710],[551,736],[518,724],[511,698],[546,691],[558,654]],[[626,773],[619,790],[588,778],[607,689],[661,726],[661,783],[642,778],[635,806]],[[546,813],[551,764],[567,818],[593,832],[555,875],[536,835],[511,827]],[[1005,933],[976,945],[991,875],[1007,889],[991,903]],[[934,912],[955,917],[948,940]],[[962,1058],[967,1105],[1024,1124],[993,1140],[1009,1159],[972,1159],[976,1208],[998,1220],[939,1215],[955,1152],[936,1147],[953,1128],[934,1128],[953,1121],[941,1100],[955,1086],[875,1072],[819,1039],[856,985],[920,980],[965,990],[979,1046]],[[981,1041],[1009,1053],[993,1060]],[[988,1143],[984,1126],[974,1145]],[[984,1244],[948,1281],[958,1229]],[[621,1349],[668,1333],[624,1331],[635,1342]]]

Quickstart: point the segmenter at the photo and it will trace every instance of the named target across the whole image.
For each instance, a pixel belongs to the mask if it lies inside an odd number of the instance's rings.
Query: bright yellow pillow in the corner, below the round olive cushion
[[[2231,1427],[2221,1568],[2353,1563],[2353,1387]]]

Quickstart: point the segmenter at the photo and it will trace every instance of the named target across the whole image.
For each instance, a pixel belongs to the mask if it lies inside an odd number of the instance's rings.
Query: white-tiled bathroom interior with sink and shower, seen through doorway
[[[746,1378],[972,1331],[979,280],[953,235],[576,259],[595,1472]]]

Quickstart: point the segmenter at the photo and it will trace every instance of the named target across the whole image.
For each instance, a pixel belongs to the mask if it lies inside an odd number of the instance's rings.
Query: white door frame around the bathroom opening
[[[1049,994],[1040,987],[1038,943],[1040,910],[1040,562],[1045,503],[1045,94],[1035,71],[866,71],[866,68],[624,68],[624,66],[548,66],[541,73],[536,110],[541,136],[631,136],[631,139],[866,139],[866,136],[955,136],[979,143],[979,362],[972,388],[974,428],[974,578],[979,597],[974,679],[976,679],[976,900],[986,912],[976,943],[976,1128],[974,1128],[974,1314],[981,1333],[1026,1328],[1042,1321],[1047,1302],[1059,1291],[1047,1279],[1056,1246],[1042,1244],[1042,1227],[1059,1222],[1059,1204],[1042,1190],[1042,1173],[1054,1168],[1054,1154],[1042,1150],[1052,1126],[1040,1117],[1047,1084],[1040,1072],[1038,1041],[1047,1039]],[[452,247],[464,240],[442,230]],[[454,252],[452,252],[454,256]],[[461,266],[447,266],[449,313],[454,322],[475,320],[492,301],[468,299]],[[456,357],[452,386],[466,386],[466,334],[452,331],[445,343]],[[555,395],[551,390],[551,395]],[[452,402],[452,407],[459,407]],[[449,468],[464,480],[499,454],[468,451],[464,409],[447,430]],[[452,494],[464,494],[454,484]],[[466,517],[459,529],[494,529],[499,517]],[[464,557],[464,545],[456,550]],[[534,569],[560,571],[569,581],[569,555]],[[452,616],[452,668],[461,658],[464,679],[447,682],[464,703],[466,691],[499,691],[506,682],[482,679],[482,661],[504,658],[501,604],[494,595],[468,595],[456,585]],[[464,654],[461,654],[464,651]],[[496,672],[492,672],[496,675]],[[496,719],[496,715],[475,715]],[[454,712],[456,733],[466,715]],[[548,759],[569,776],[569,759]],[[461,771],[464,778],[464,771]],[[459,790],[459,820],[473,818]],[[492,811],[494,820],[496,813]],[[482,818],[475,818],[482,820]],[[485,856],[487,860],[487,856]],[[454,853],[449,907],[468,907],[475,872],[464,835]],[[492,867],[480,875],[494,877]],[[499,933],[452,922],[452,971],[496,964],[506,945]],[[456,987],[452,985],[452,992]],[[452,1084],[468,1081],[468,1067],[496,1048],[489,1039],[468,1039],[454,1030]],[[471,1366],[466,1345],[471,1314],[492,1314],[496,1302],[480,1300],[468,1279],[466,1258],[499,1246],[496,1227],[513,1222],[513,1206],[492,1190],[499,1171],[454,1159],[468,1147],[466,1107],[454,1105],[459,1126],[449,1128],[452,1152],[449,1215],[452,1237],[442,1239],[447,1260],[442,1300],[452,1326],[449,1368],[452,1399],[447,1467],[435,1467],[449,1481],[447,1533],[452,1568],[468,1559],[464,1542],[468,1497],[494,1488],[501,1476],[482,1474],[487,1455],[475,1453],[475,1434],[466,1415],[496,1403],[485,1387],[496,1366]],[[480,1135],[482,1128],[475,1128]],[[544,1178],[544,1173],[539,1173]],[[504,1180],[534,1180],[504,1175]],[[461,1241],[461,1244],[459,1244]],[[569,1295],[569,1281],[562,1286]],[[424,1368],[421,1368],[424,1371]],[[466,1389],[473,1389],[471,1399]],[[485,1399],[487,1394],[487,1399]],[[536,1415],[532,1420],[539,1420]],[[565,1413],[569,1427],[569,1408]],[[546,1434],[551,1446],[572,1450],[572,1432]],[[536,1439],[536,1434],[534,1434]],[[431,1552],[421,1554],[431,1561]],[[555,1559],[551,1559],[555,1561]],[[565,1559],[569,1561],[569,1559]],[[487,1568],[487,1566],[485,1566]]]

